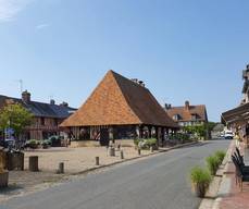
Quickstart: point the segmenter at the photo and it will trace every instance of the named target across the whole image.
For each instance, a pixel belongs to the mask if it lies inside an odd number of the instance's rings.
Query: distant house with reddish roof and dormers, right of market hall
[[[208,114],[204,104],[192,106],[189,101],[185,101],[183,107],[172,107],[165,104],[166,113],[172,118],[179,126],[201,125],[208,123]]]

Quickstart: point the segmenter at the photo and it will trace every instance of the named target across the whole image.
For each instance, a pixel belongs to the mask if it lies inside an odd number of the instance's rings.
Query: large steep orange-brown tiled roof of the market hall
[[[149,89],[109,71],[86,102],[61,126],[128,124],[178,127]]]

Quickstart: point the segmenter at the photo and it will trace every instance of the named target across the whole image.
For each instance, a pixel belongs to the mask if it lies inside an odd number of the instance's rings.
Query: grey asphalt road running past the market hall
[[[194,209],[200,199],[190,192],[192,165],[229,140],[213,140],[116,165],[25,197],[4,202],[4,209]]]

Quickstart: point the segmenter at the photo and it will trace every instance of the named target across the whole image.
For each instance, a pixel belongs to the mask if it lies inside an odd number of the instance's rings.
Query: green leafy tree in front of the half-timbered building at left
[[[0,130],[10,127],[20,139],[26,126],[32,124],[33,114],[20,103],[11,103],[0,111]]]

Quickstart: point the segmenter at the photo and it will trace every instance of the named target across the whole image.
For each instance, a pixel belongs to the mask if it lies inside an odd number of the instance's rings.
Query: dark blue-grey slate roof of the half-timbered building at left
[[[38,101],[23,102],[22,99],[0,95],[0,108],[8,103],[8,100],[21,103],[24,108],[29,110],[35,116],[58,118],[65,119],[76,109],[65,106],[58,106],[51,103],[42,103]]]

